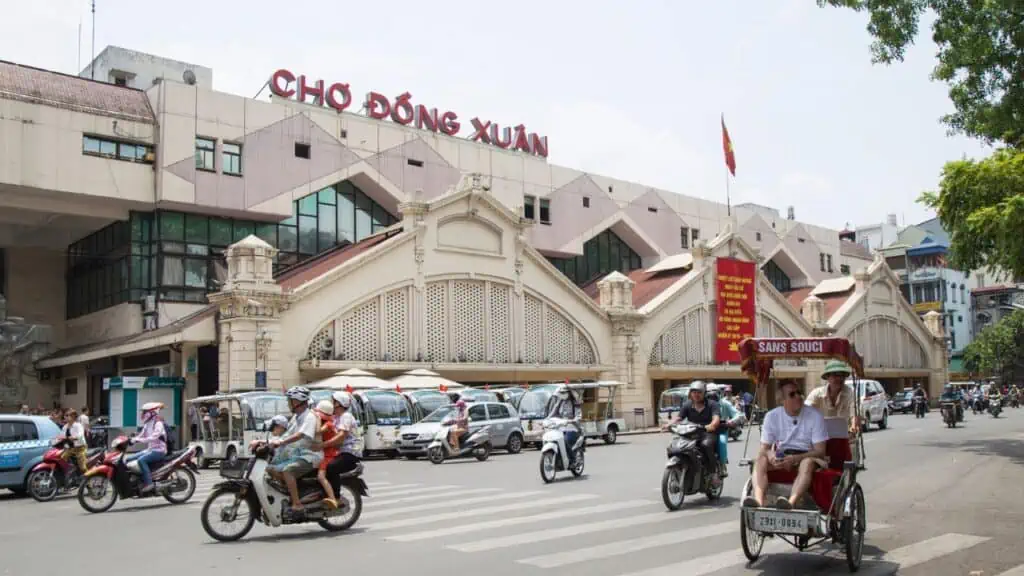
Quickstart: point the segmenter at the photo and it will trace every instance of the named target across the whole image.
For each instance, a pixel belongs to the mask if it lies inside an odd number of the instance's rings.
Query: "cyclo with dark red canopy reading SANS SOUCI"
[[[740,342],[742,370],[757,386],[766,386],[776,359],[833,359],[846,362],[852,370],[853,388],[863,377],[863,360],[853,343],[846,338],[748,338]],[[854,414],[860,414],[860,395],[854,396]],[[759,419],[760,420],[760,419]],[[851,572],[860,568],[863,557],[865,520],[864,492],[857,483],[857,474],[864,470],[864,446],[860,435],[855,439],[856,454],[851,450],[846,422],[828,422],[829,438],[825,444],[828,466],[814,472],[808,495],[793,509],[744,507],[740,510],[739,532],[743,554],[752,563],[761,556],[765,538],[778,537],[798,550],[805,550],[830,540],[844,546]],[[762,422],[758,421],[760,429]],[[754,494],[754,463],[746,458],[754,426],[746,434],[743,458],[751,478],[743,486],[740,499]],[[842,438],[840,438],[842,436]],[[760,442],[759,442],[760,445]],[[769,470],[767,494],[785,493],[796,480],[796,470]]]

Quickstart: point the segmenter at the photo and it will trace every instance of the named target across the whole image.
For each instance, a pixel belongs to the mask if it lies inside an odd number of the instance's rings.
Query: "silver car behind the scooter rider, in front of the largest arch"
[[[455,406],[442,406],[415,424],[401,426],[398,431],[398,453],[410,460],[426,456],[427,446],[437,436],[441,421],[455,410]],[[504,402],[473,402],[469,404],[469,429],[477,430],[490,426],[494,448],[517,454],[522,450],[522,424],[519,413],[511,404]]]

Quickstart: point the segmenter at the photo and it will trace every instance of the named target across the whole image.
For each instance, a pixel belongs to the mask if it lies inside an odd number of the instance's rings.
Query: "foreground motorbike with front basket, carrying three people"
[[[326,494],[316,480],[316,470],[298,479],[303,509],[292,512],[288,488],[266,474],[272,455],[273,450],[268,445],[259,444],[252,458],[239,459],[233,464],[221,463],[223,482],[213,487],[200,515],[203,530],[212,538],[220,542],[239,540],[252,530],[256,520],[273,528],[316,523],[329,532],[347,530],[359,520],[362,497],[369,496],[367,484],[360,478],[362,462],[353,470],[331,478],[331,488],[338,500],[338,507],[334,509],[324,505]],[[222,498],[226,502],[216,504]],[[217,520],[224,523],[241,521],[241,527],[234,532],[219,531],[213,526]]]

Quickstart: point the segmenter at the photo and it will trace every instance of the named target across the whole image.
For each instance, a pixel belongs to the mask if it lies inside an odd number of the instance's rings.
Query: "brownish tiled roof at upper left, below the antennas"
[[[0,98],[156,124],[145,92],[0,60]]]

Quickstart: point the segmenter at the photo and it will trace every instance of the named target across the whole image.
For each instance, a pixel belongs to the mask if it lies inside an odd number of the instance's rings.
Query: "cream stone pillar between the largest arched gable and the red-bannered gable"
[[[603,378],[617,380],[625,384],[618,390],[615,404],[626,419],[627,427],[634,422],[638,426],[654,423],[656,414],[651,410],[651,381],[647,376],[646,359],[640,358],[640,327],[643,316],[633,306],[633,286],[635,283],[618,272],[613,272],[597,283],[598,305],[611,321],[611,364],[614,369],[602,374]],[[633,417],[635,408],[644,409],[644,421]]]

